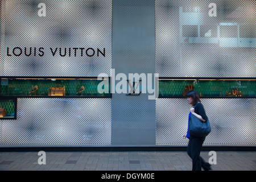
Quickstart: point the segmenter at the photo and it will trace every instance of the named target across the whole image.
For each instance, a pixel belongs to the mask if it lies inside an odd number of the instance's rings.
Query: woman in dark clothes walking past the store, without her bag
[[[189,117],[193,114],[201,121],[206,122],[208,118],[205,114],[204,106],[201,104],[199,94],[195,90],[190,90],[185,94],[185,97],[188,99],[188,104],[193,106],[190,109]],[[196,137],[195,135],[189,134],[189,131],[187,131],[186,135],[183,135],[183,138],[186,137],[189,139],[187,152],[192,159],[192,171],[201,171],[202,167],[205,171],[209,171],[211,169],[210,164],[205,162],[200,156],[205,137]]]

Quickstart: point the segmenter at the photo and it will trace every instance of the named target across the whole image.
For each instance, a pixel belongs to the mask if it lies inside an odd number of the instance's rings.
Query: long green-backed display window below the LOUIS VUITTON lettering
[[[102,82],[103,81],[103,82]],[[98,93],[99,84],[109,93]],[[101,88],[104,90],[104,85]],[[1,77],[1,97],[112,98],[110,78],[97,77]]]

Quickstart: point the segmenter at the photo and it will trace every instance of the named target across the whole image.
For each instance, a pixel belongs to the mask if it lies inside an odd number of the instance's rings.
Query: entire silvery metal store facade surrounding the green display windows
[[[127,76],[155,72],[160,77],[256,75],[255,38],[242,38],[239,44],[238,39],[220,39],[219,43],[218,36],[223,35],[218,31],[225,24],[220,16],[207,18],[209,3],[226,9],[228,16],[238,5],[250,9],[251,1],[113,0],[113,38],[112,1],[63,0],[61,6],[59,0],[44,2],[46,17],[37,16],[39,0],[2,1],[0,76],[113,76],[112,67],[116,74]],[[186,23],[189,13],[198,11],[189,10],[194,6],[200,7],[203,23]],[[247,21],[237,20],[241,26]],[[207,22],[217,24],[217,33],[214,29],[209,36]],[[254,36],[253,28],[246,30]],[[14,57],[7,56],[7,47],[45,47],[46,52],[42,57]],[[96,52],[92,57],[61,57],[57,52],[53,57],[51,47],[105,48],[106,56],[97,57]],[[147,96],[18,98],[17,119],[0,121],[0,147],[186,146],[188,140],[182,135],[187,131],[187,101],[155,101]],[[212,124],[206,146],[256,145],[255,98],[203,98],[202,103]]]

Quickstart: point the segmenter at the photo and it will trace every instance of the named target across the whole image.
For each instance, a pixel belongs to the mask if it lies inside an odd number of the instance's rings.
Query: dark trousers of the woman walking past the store
[[[192,171],[201,171],[202,167],[205,171],[210,169],[210,164],[200,157],[200,151],[204,140],[205,137],[189,136],[187,152],[192,159]]]

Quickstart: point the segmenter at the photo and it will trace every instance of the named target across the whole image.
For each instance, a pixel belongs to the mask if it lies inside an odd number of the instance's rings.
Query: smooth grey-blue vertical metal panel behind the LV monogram
[[[127,79],[129,73],[152,73],[154,76],[154,20],[152,0],[113,0],[112,68],[115,75],[124,73]],[[140,86],[146,85],[141,82]],[[128,89],[127,84],[127,92]],[[148,95],[112,95],[113,146],[155,146],[155,100],[148,100]]]

